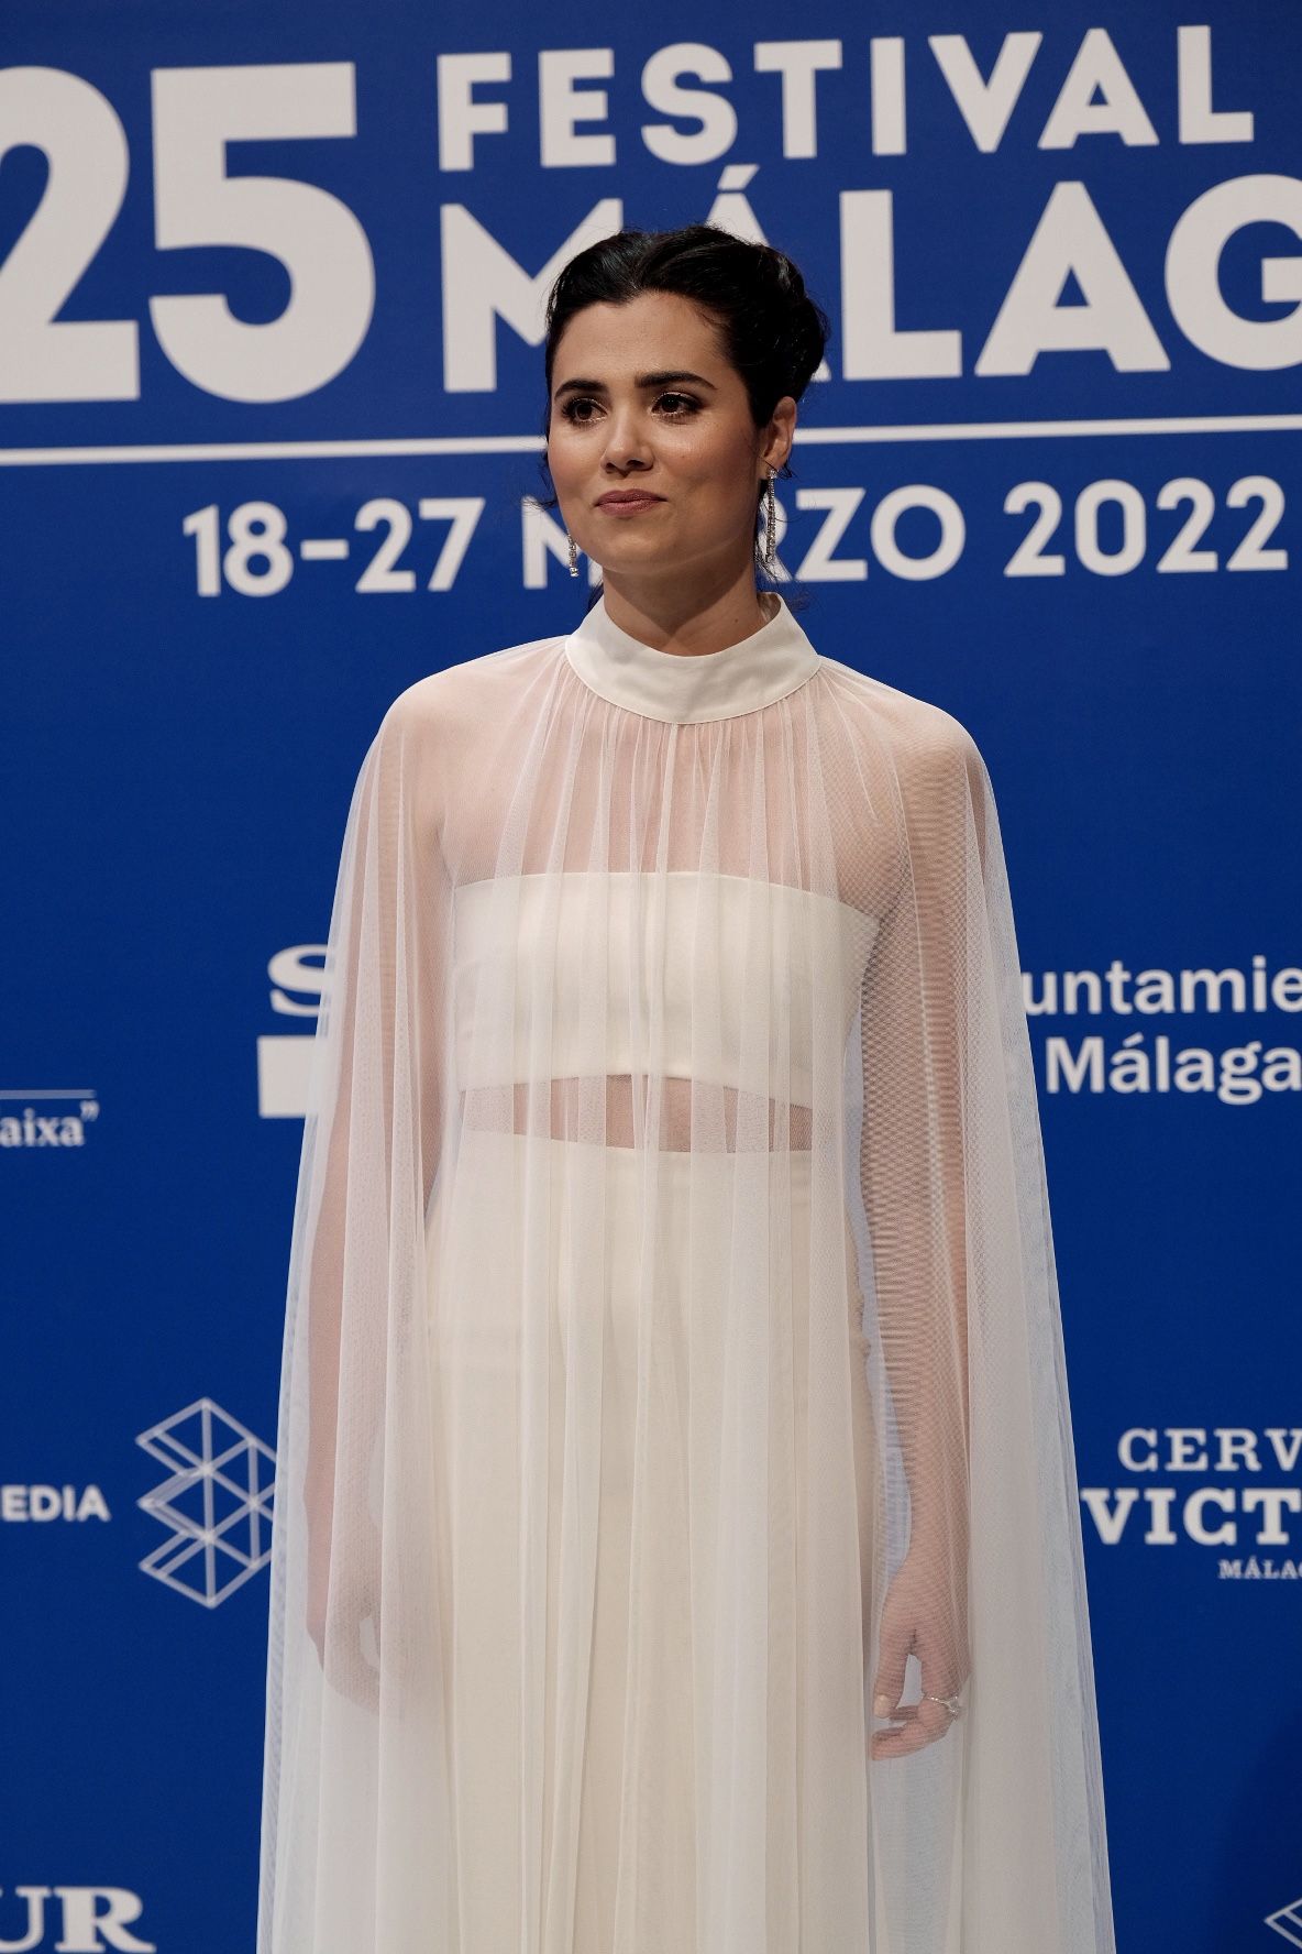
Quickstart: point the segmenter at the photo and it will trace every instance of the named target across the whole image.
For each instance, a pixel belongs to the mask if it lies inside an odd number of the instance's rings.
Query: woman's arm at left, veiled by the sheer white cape
[[[443,1120],[445,871],[429,743],[412,719],[410,705],[390,711],[349,811],[310,1135],[316,1153],[324,1133],[326,1161],[303,1243],[308,1628],[322,1661],[330,1630],[342,1684],[363,1688],[361,1630],[379,1602],[379,1530],[365,1510],[383,1444],[379,1356],[388,1309],[420,1284],[406,1256],[422,1241]]]

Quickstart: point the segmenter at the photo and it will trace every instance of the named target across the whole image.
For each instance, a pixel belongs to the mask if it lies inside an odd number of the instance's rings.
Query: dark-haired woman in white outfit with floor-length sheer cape
[[[1111,1954],[990,780],[755,580],[826,324],[703,225],[574,258],[547,457],[601,594],[363,764],[260,1954]]]

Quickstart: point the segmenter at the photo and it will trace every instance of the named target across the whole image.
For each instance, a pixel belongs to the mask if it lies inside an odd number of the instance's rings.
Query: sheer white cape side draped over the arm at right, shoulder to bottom
[[[910,1954],[949,1946],[956,1919],[955,1944],[1097,1954],[1113,1946],[1103,1776],[1005,856],[958,721],[931,713],[900,741],[894,782],[902,873],[861,1000],[869,1315],[890,1411],[869,1678],[888,1700],[871,1743],[878,1909]],[[931,1698],[958,1690],[951,1721]]]

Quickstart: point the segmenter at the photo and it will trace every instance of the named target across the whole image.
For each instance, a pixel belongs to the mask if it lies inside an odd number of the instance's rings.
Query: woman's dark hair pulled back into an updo
[[[767,426],[773,408],[798,401],[822,363],[830,322],[804,289],[800,268],[773,244],[752,244],[718,225],[679,231],[617,231],[562,266],[547,299],[547,406],[550,428],[552,369],[560,336],[588,305],[627,305],[642,291],[675,291],[716,322],[722,348],[742,377],[752,420]],[[785,463],[779,471],[791,475]],[[543,479],[552,488],[547,455]],[[554,508],[554,488],[539,508]],[[759,526],[761,492],[755,494]]]

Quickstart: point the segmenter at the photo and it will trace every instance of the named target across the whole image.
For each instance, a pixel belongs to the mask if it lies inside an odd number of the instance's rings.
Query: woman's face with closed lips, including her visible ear
[[[547,459],[566,528],[607,574],[738,576],[794,420],[785,395],[755,428],[718,328],[679,293],[588,305],[552,363]]]

